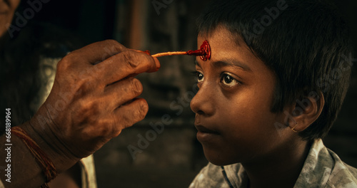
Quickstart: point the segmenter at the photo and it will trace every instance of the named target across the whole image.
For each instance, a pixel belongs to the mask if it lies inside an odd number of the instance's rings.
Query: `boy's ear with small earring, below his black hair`
[[[324,104],[325,99],[321,92],[311,92],[301,100],[296,100],[291,110],[293,120],[288,122],[291,130],[294,132],[305,130],[320,116]]]

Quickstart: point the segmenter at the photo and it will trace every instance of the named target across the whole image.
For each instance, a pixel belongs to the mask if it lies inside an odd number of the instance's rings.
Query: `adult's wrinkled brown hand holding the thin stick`
[[[133,76],[159,67],[156,58],[116,41],[73,51],[59,61],[51,93],[29,127],[55,155],[75,160],[91,155],[144,119],[148,105],[136,98],[143,87]]]

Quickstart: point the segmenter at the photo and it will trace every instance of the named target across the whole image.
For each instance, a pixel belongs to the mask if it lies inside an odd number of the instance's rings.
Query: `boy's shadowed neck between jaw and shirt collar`
[[[309,142],[300,140],[262,160],[242,163],[248,174],[248,187],[293,187],[310,147]]]

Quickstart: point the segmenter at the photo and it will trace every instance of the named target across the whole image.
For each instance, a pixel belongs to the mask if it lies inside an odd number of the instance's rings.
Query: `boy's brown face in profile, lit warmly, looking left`
[[[225,165],[272,157],[290,137],[286,129],[274,126],[283,122],[282,113],[270,111],[276,85],[273,71],[243,40],[237,45],[223,26],[208,38],[198,36],[198,46],[204,40],[211,46],[211,59],[196,58],[200,89],[191,109],[196,113],[197,139],[206,158]]]

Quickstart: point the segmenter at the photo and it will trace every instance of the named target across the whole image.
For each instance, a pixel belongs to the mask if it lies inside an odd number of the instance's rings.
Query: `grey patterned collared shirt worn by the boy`
[[[190,188],[193,187],[247,187],[248,176],[240,163],[224,167],[208,163],[201,169]],[[342,162],[322,140],[313,142],[303,169],[294,188],[305,187],[357,187],[357,169]]]

